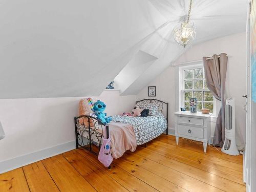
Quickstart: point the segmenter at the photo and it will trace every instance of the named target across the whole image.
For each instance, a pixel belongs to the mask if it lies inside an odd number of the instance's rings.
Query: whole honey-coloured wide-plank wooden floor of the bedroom
[[[0,191],[245,191],[243,156],[162,135],[114,160],[73,150],[0,175]]]

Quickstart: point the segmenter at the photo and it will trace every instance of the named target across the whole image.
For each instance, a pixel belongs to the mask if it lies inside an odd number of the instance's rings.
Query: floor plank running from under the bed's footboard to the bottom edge
[[[119,166],[112,164],[112,168],[109,170],[108,168],[104,167],[97,159],[95,155],[90,154],[89,152],[79,149],[77,150],[78,153],[83,155],[85,158],[90,160],[91,162],[95,163],[98,167],[105,170],[106,174],[116,180],[118,183],[123,185],[129,191],[158,191],[152,186],[144,183],[140,179],[134,177],[132,174],[126,172]]]

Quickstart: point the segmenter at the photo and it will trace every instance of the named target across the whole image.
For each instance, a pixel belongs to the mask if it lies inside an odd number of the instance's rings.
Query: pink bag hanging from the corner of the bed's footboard
[[[106,128],[104,131],[104,138],[102,138],[102,145],[100,147],[99,155],[98,155],[98,160],[106,167],[110,166],[113,157],[111,155],[111,139],[105,139],[106,138]],[[110,134],[109,134],[110,135]]]

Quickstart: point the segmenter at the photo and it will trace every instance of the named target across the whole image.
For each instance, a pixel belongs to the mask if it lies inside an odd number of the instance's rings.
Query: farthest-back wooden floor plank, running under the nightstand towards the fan
[[[191,151],[196,151],[196,152],[199,152],[199,153],[202,153],[202,154],[204,153],[203,152],[203,145],[195,144],[191,141],[187,141],[187,139],[180,138],[179,139],[179,145],[176,145],[175,136],[160,135],[159,137],[157,137],[154,140],[162,141],[164,143],[172,144],[174,146],[181,147],[181,148],[187,148]],[[215,148],[213,148],[211,146],[207,147],[207,153],[205,155],[214,156],[214,157],[224,159],[226,161],[230,161],[230,162],[233,162],[233,163],[243,164],[243,156],[242,155],[239,155],[239,156],[227,155],[225,153],[217,151]]]

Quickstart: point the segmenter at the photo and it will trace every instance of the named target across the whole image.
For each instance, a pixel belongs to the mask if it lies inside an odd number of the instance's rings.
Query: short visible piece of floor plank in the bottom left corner
[[[29,191],[23,169],[17,168],[10,172],[0,174],[0,191]]]

